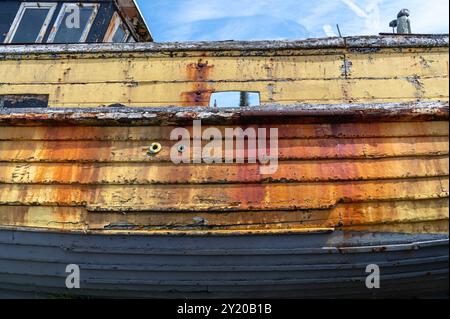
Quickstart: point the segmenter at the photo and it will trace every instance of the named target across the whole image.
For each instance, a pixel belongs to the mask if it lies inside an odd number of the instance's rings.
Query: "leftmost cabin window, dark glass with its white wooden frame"
[[[5,43],[41,43],[57,4],[24,2],[5,39]]]

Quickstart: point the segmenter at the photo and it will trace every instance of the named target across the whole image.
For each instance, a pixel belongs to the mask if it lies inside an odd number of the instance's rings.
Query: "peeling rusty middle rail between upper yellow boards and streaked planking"
[[[0,108],[1,125],[172,125],[245,123],[339,123],[448,120],[449,102],[384,104],[295,104],[251,108]]]

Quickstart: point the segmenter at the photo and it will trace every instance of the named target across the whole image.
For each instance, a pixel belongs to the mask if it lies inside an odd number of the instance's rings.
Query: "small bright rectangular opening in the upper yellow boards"
[[[215,92],[211,95],[210,107],[233,108],[260,105],[259,92],[229,91]]]

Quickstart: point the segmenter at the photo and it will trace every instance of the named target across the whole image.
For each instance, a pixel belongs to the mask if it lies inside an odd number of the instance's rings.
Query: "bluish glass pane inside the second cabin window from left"
[[[89,18],[94,12],[93,7],[67,6],[61,24],[56,31],[53,42],[77,43],[86,28]]]

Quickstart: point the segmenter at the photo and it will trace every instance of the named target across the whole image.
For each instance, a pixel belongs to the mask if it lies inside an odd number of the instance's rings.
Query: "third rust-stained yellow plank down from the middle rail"
[[[446,176],[448,157],[286,161],[261,175],[258,164],[0,162],[0,183],[9,184],[227,184],[317,182]]]

